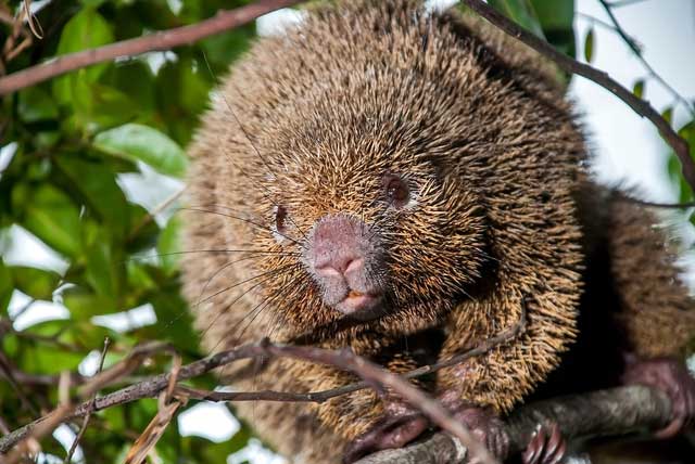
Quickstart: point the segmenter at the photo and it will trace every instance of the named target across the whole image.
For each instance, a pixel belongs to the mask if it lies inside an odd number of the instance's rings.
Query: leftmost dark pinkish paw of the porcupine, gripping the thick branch
[[[429,421],[413,411],[391,412],[348,446],[343,463],[349,464],[380,450],[401,448],[429,427]]]

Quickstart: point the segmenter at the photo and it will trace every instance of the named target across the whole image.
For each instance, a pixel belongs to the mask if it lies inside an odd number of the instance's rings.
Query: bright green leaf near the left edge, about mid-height
[[[22,225],[56,252],[77,257],[80,252],[78,207],[66,194],[46,183],[27,191],[27,195],[30,199],[23,206]]]

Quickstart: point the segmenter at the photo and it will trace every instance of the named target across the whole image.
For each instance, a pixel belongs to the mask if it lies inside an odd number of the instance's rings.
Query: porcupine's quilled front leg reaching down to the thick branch
[[[522,333],[510,335],[486,352],[438,374],[438,397],[501,460],[509,454],[509,439],[501,415],[531,392],[557,365],[559,353],[571,339],[573,319],[568,317],[567,325],[563,326],[543,314],[548,309],[543,304],[549,302],[552,297],[552,293],[543,292],[534,297],[522,297],[511,287],[486,300],[462,305],[450,320],[450,336],[441,360],[485,344],[492,337],[509,332],[522,317],[527,319]],[[572,308],[568,309],[568,315],[573,315]],[[523,462],[561,460],[559,451],[564,446],[556,435],[553,434],[554,439],[549,441],[529,443],[531,448],[522,455]],[[553,450],[543,449],[546,441]]]

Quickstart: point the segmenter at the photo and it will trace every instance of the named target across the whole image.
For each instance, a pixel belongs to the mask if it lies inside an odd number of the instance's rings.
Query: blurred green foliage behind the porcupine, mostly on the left
[[[36,17],[43,38],[12,60],[3,55],[1,64],[12,73],[61,54],[197,23],[241,3],[49,1]],[[490,3],[574,55],[572,0]],[[20,7],[18,0],[0,2],[10,15]],[[173,344],[185,362],[202,356],[179,294],[180,222],[176,215],[155,218],[155,208],[148,210],[124,190],[123,178],[146,166],[162,176],[181,178],[188,164],[185,150],[207,105],[214,76],[226,73],[254,34],[254,27],[248,26],[167,52],[101,63],[23,89],[0,103],[0,252],[13,246],[10,231],[20,227],[66,262],[65,269],[56,271],[16,266],[0,257],[0,360],[7,359],[28,379],[21,386],[0,383],[0,418],[11,429],[56,403],[55,385],[45,385],[42,376],[77,371],[88,355],[93,357],[101,349],[105,337],[111,339],[106,365],[152,339]],[[10,35],[12,28],[2,24],[0,41],[5,43]],[[589,34],[583,47],[587,61],[593,48],[593,34]],[[643,81],[635,83],[634,92],[644,92]],[[672,108],[665,111],[669,120],[671,114]],[[694,121],[684,125],[681,134],[695,146]],[[681,185],[681,199],[694,201],[673,160],[670,170]],[[28,304],[11,314],[10,300],[17,292]],[[68,317],[16,328],[13,319],[40,300],[62,305]],[[116,332],[94,320],[147,304],[156,322],[143,327]],[[137,375],[169,368],[170,359],[162,356]],[[207,389],[216,385],[212,375],[191,383]],[[156,402],[143,400],[98,413],[80,442],[87,462],[122,462],[155,412]],[[243,448],[249,437],[247,428],[223,443],[181,437],[174,422],[156,451],[165,463],[220,463]],[[48,454],[65,454],[53,439],[41,444]]]

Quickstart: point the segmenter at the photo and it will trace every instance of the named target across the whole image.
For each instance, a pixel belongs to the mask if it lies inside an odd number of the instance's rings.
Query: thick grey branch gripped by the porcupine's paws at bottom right
[[[643,386],[620,387],[585,395],[553,398],[517,408],[505,420],[510,453],[526,449],[538,424],[555,423],[563,436],[626,435],[641,429],[665,427],[671,416],[671,402],[656,389]],[[460,443],[448,434],[437,433],[407,447],[374,453],[355,464],[465,464]]]

